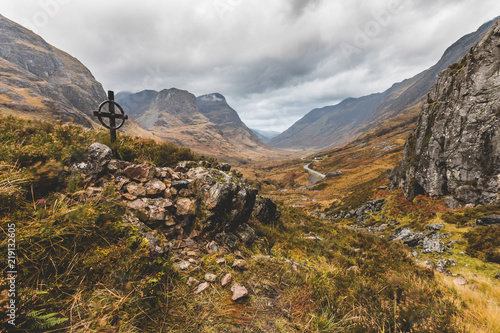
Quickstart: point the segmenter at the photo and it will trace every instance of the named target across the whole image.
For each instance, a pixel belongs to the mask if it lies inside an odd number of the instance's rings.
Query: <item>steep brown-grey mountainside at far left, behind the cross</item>
[[[107,99],[78,59],[0,15],[0,114],[97,127],[92,111]],[[132,121],[123,131],[157,141]]]

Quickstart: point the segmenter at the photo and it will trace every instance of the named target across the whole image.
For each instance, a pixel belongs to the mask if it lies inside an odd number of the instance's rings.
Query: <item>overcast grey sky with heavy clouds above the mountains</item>
[[[251,128],[382,92],[500,15],[498,0],[1,0],[104,89],[219,92]]]

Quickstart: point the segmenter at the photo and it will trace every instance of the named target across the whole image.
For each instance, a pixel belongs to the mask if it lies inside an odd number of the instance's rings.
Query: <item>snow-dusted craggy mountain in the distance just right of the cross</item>
[[[240,163],[275,153],[246,127],[221,94],[196,98],[171,88],[122,92],[116,100],[145,129],[199,153]]]

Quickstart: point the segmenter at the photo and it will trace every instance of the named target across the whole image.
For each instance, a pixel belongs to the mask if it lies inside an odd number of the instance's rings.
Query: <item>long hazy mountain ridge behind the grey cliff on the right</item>
[[[314,109],[269,144],[276,148],[324,150],[348,143],[377,128],[413,123],[438,73],[460,60],[495,21],[460,38],[426,71],[394,84],[383,93],[349,98],[334,106]]]

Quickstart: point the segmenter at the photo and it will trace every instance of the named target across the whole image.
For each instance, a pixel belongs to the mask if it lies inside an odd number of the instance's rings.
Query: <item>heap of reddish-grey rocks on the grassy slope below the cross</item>
[[[257,190],[231,172],[200,165],[209,163],[182,162],[175,168],[133,164],[111,159],[111,149],[94,143],[72,170],[93,189],[113,186],[135,223],[145,224],[167,241],[182,240],[187,248],[198,249],[197,241],[215,240],[211,249],[216,252],[221,246],[251,244],[257,236],[247,222]],[[255,215],[279,217],[273,205],[259,204]]]

